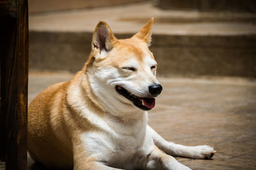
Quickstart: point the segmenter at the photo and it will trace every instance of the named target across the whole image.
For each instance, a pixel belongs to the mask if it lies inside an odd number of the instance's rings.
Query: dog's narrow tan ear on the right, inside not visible
[[[150,20],[147,22],[146,25],[144,25],[140,31],[135,34],[133,37],[138,38],[138,39],[142,39],[143,41],[145,41],[145,43],[147,43],[148,46],[150,46],[150,41],[151,41],[151,28],[154,22],[154,18],[150,18]]]

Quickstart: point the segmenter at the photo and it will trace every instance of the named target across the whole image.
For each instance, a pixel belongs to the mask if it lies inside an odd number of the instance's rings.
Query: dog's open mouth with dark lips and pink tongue
[[[132,103],[140,108],[141,110],[151,110],[154,108],[156,102],[155,98],[146,98],[146,97],[138,97],[134,94],[131,94],[131,92],[128,92],[123,87],[116,85],[116,92],[124,96],[129,101],[132,101]]]

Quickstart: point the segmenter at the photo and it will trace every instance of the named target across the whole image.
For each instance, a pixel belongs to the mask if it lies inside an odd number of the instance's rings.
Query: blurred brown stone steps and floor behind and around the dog
[[[191,169],[254,169],[255,0],[29,0],[29,103],[81,70],[100,20],[129,38],[150,17],[163,92],[149,124],[169,141],[214,146],[211,160],[177,158]]]

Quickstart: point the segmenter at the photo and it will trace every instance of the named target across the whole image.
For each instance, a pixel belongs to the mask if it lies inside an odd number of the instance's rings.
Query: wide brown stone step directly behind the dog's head
[[[30,15],[29,68],[79,71],[99,20],[129,38],[150,17],[158,74],[256,77],[255,14],[161,10],[151,2]]]

